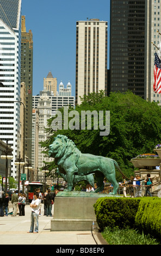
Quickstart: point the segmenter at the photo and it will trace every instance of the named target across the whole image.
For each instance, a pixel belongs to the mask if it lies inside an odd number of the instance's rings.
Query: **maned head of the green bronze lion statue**
[[[76,154],[79,156],[81,153],[77,149],[75,143],[65,135],[58,135],[54,138],[54,141],[49,145],[48,156],[54,159],[69,156],[70,154]]]

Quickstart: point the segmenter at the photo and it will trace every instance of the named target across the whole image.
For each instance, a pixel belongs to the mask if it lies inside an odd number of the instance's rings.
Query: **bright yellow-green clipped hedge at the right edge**
[[[135,225],[145,234],[161,238],[161,198],[146,197],[140,200]]]

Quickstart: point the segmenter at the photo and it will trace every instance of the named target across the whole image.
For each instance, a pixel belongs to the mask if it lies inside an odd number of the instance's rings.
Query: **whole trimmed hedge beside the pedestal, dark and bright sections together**
[[[94,204],[101,231],[105,227],[138,228],[161,237],[161,198],[99,198]]]

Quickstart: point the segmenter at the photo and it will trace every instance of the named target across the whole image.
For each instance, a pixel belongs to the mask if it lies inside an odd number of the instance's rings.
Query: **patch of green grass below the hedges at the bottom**
[[[152,236],[140,234],[136,229],[119,229],[106,227],[102,236],[109,245],[160,245],[157,239]]]

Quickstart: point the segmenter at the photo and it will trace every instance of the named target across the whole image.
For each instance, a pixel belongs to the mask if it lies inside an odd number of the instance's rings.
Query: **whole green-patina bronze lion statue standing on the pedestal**
[[[54,158],[58,165],[59,172],[66,175],[67,189],[73,190],[75,175],[83,176],[95,174],[97,188],[95,192],[100,192],[104,188],[104,177],[113,184],[113,192],[116,194],[119,187],[115,178],[115,166],[119,168],[117,162],[113,159],[91,154],[83,154],[76,147],[71,139],[64,135],[58,135],[49,145],[48,156]]]

